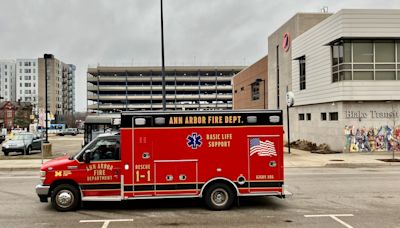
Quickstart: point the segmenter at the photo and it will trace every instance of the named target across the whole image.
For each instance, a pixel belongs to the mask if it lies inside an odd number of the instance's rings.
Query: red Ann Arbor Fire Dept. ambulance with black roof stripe
[[[241,196],[285,197],[282,111],[126,112],[117,134],[41,167],[41,202],[201,197],[213,210]]]

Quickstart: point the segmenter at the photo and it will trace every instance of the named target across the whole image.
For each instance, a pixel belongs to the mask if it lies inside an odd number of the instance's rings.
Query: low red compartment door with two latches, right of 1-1
[[[154,161],[155,195],[196,195],[199,191],[197,160]]]

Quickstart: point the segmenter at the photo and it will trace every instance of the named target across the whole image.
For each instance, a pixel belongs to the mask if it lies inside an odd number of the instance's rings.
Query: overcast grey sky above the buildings
[[[86,110],[88,65],[160,65],[159,0],[0,0],[0,59],[52,53],[77,66]],[[400,0],[164,0],[166,65],[250,65],[297,12],[400,8]]]

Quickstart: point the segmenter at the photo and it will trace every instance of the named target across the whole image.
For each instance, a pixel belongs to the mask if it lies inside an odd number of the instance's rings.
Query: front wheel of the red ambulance
[[[76,210],[80,202],[81,195],[79,190],[73,185],[60,184],[51,192],[51,205],[57,211]]]

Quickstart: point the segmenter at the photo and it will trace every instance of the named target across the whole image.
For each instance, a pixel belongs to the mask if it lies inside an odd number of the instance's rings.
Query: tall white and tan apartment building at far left
[[[48,107],[52,114],[75,111],[75,70],[73,64],[48,59]],[[45,66],[43,58],[0,60],[0,101],[29,102],[33,114],[45,109]]]

